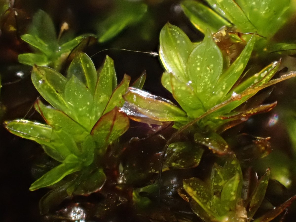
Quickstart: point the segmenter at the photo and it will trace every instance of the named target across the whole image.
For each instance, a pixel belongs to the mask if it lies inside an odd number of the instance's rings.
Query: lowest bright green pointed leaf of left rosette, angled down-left
[[[65,176],[81,170],[79,159],[74,155],[69,155],[64,163],[49,170],[41,178],[36,180],[31,186],[30,190],[36,190],[42,187],[51,186],[64,178]]]

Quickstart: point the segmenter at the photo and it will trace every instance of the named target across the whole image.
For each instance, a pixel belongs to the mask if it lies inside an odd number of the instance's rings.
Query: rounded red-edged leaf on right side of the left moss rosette
[[[91,135],[97,143],[98,152],[104,154],[107,146],[118,139],[129,127],[129,120],[126,114],[118,112],[115,107],[103,115],[91,130]]]

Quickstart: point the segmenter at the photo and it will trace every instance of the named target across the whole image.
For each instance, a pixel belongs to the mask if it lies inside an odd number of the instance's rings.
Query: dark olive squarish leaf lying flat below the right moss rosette
[[[165,164],[169,168],[194,168],[200,163],[204,149],[187,142],[176,142],[168,146]]]

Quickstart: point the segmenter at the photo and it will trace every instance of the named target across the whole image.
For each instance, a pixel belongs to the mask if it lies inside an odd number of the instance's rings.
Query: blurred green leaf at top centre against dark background
[[[104,20],[98,29],[99,42],[106,42],[129,25],[137,23],[147,12],[146,4],[126,3],[119,12]]]

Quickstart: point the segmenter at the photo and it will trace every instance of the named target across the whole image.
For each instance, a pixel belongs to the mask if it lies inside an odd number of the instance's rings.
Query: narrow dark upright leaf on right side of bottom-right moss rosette
[[[266,173],[260,178],[254,192],[252,193],[252,199],[247,212],[248,218],[253,218],[254,214],[260,207],[266,193],[269,177],[270,170],[267,169]]]

